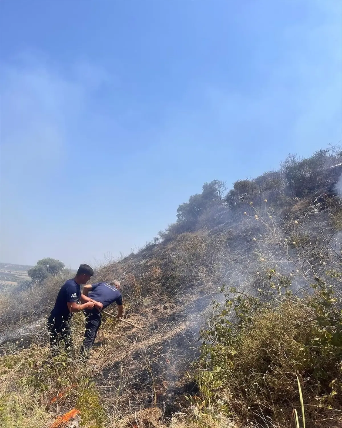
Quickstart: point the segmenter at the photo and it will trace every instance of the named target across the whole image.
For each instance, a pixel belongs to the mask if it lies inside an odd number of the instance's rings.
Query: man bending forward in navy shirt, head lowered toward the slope
[[[116,302],[118,305],[118,315],[120,318],[123,312],[122,295],[120,290],[120,282],[115,280],[112,282],[97,282],[96,284],[88,284],[83,287],[83,294],[103,304],[103,309]],[[88,352],[94,345],[97,330],[101,325],[101,311],[97,306],[84,310],[85,314],[85,333],[83,345],[81,346],[81,354]]]

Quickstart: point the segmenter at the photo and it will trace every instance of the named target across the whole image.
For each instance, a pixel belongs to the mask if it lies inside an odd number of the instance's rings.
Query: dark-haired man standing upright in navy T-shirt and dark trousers
[[[56,303],[47,319],[47,329],[50,333],[50,346],[64,342],[65,348],[73,345],[69,321],[74,312],[97,307],[102,309],[102,303],[93,300],[81,293],[80,285],[86,284],[94,270],[88,265],[80,265],[74,279],[69,279],[59,290]],[[78,304],[81,301],[82,304]]]

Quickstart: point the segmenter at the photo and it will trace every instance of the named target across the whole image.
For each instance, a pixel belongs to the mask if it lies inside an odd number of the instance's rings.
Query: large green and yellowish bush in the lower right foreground
[[[329,276],[341,279],[337,272]],[[341,300],[321,279],[301,299],[289,291],[268,301],[227,295],[201,332],[196,405],[260,426],[286,426],[301,407],[298,375],[307,426],[323,419],[331,426],[342,409],[341,314]]]

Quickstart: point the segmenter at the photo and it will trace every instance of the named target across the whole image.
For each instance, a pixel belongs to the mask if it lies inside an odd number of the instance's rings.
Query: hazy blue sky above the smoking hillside
[[[1,262],[127,254],[342,134],[342,2],[0,2]]]

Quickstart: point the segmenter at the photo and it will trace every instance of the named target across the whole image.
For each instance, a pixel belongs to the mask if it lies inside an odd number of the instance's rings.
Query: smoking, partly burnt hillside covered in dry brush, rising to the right
[[[5,335],[10,331],[12,339],[1,348],[5,382],[0,407],[5,416],[0,421],[6,427],[48,427],[56,415],[76,408],[81,426],[93,428],[290,427],[294,426],[287,422],[293,406],[300,409],[298,373],[311,424],[307,426],[340,426],[342,383],[336,363],[340,354],[334,342],[342,340],[339,160],[341,155],[329,152],[292,160],[280,171],[264,174],[263,181],[237,181],[227,194],[219,181],[205,184],[200,195],[180,205],[177,223],[160,232],[159,238],[137,254],[97,268],[95,281],[121,281],[124,319],[136,327],[105,315],[87,363],[78,356],[82,314],[72,321],[73,357],[61,354],[51,359],[46,345],[44,317],[68,272],[32,285],[15,300],[2,297],[0,308],[6,310],[1,309],[1,330]],[[328,318],[312,318],[321,305]],[[115,308],[111,310],[115,313]],[[265,314],[270,314],[270,323],[278,320],[280,331],[271,324],[271,328],[258,324],[268,319]],[[295,321],[294,314],[306,321]],[[23,337],[13,337],[15,329],[23,333],[24,322],[39,318],[33,334],[31,329]],[[292,322],[299,324],[291,329]],[[315,330],[320,323],[326,327]],[[268,347],[262,341],[257,345],[257,333],[248,336],[253,325],[265,332],[263,337],[270,335],[267,344],[272,334],[277,337],[277,349],[288,338],[289,351],[296,342],[300,349],[321,354],[315,365],[323,364],[326,375],[334,376],[329,378],[332,386],[325,374],[310,371],[310,359],[304,359],[303,351],[292,355],[286,374],[281,370],[274,374],[274,366],[282,360],[273,348],[259,366],[253,366],[257,358],[249,361],[248,353],[258,346]],[[311,330],[302,334],[303,325],[310,325]],[[328,342],[323,342],[321,334],[329,334],[331,340],[327,336]],[[203,345],[208,339],[212,348]],[[314,339],[315,348],[310,348]],[[243,343],[247,347],[239,348]],[[329,350],[329,357],[323,349]],[[239,360],[234,358],[236,352]],[[255,352],[260,354],[260,350]],[[243,392],[261,385],[258,376],[268,360],[265,373],[274,377],[267,385],[271,391],[267,400],[274,398],[273,403],[266,400],[268,392],[261,386],[253,396]],[[285,366],[284,361],[281,364]],[[236,376],[241,373],[240,378],[230,377],[226,371],[230,365]],[[231,389],[224,387],[223,379]],[[287,398],[277,390],[277,383],[286,389]],[[323,398],[329,394],[331,399]],[[321,401],[315,401],[315,396]]]

